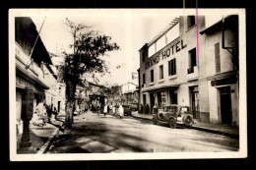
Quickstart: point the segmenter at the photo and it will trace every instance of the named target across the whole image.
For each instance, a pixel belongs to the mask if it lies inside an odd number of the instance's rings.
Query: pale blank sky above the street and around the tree
[[[120,49],[108,52],[103,59],[107,62],[110,75],[97,77],[99,84],[124,85],[132,80],[140,62],[139,49],[151,41],[163,28],[178,17],[171,9],[77,9],[77,10],[35,10],[27,13],[32,18],[48,52],[59,54],[61,50],[70,50],[73,37],[65,25],[66,18],[75,24],[84,24],[98,30],[99,33],[111,36]],[[30,15],[31,14],[31,15]],[[186,15],[185,12],[179,15]],[[191,13],[190,13],[191,14]],[[196,14],[192,10],[192,14]],[[120,66],[119,69],[116,69]]]

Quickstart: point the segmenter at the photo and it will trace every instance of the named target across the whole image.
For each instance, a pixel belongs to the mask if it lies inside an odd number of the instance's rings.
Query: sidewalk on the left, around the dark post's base
[[[54,120],[51,123],[46,123],[45,126],[39,127],[30,125],[30,135],[31,135],[31,147],[20,148],[20,142],[22,135],[17,137],[17,153],[18,154],[32,154],[32,153],[43,153],[49,143],[54,138],[54,136],[59,132],[60,128],[63,126],[63,122],[59,120]]]

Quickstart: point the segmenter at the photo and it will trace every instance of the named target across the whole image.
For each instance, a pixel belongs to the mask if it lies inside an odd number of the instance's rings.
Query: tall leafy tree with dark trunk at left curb
[[[119,46],[116,43],[110,43],[110,36],[100,35],[95,30],[88,30],[90,27],[75,25],[66,20],[66,25],[74,37],[74,43],[70,45],[74,51],[73,53],[63,52],[65,65],[62,67],[67,97],[65,132],[68,133],[72,129],[76,86],[85,73],[104,73],[107,68],[100,56],[104,56],[108,51],[119,49]]]

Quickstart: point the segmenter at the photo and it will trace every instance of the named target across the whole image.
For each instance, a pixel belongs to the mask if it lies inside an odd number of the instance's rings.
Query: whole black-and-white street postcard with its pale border
[[[244,9],[10,9],[10,159],[247,156]]]

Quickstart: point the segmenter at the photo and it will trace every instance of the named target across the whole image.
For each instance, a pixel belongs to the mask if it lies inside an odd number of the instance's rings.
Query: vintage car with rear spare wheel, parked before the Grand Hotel
[[[168,123],[170,128],[175,128],[176,125],[191,128],[194,120],[189,106],[170,104],[155,111],[153,114],[153,124],[156,125],[158,122]]]

